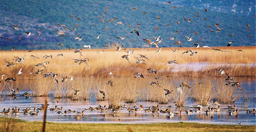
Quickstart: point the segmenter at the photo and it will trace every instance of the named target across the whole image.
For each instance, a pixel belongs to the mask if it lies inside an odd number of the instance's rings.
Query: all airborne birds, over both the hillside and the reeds
[[[168,4],[172,4],[171,1],[168,1],[167,3],[168,3]],[[115,17],[115,18],[110,19],[110,20],[108,20],[108,21],[104,20],[104,17],[108,14],[107,11],[109,10],[109,7],[105,7],[104,9],[105,9],[106,11],[103,12],[102,16],[98,17],[101,22],[109,23],[109,22],[114,22],[115,20],[118,19],[117,17]],[[176,9],[176,7],[174,7],[174,9]],[[136,8],[136,7],[133,7],[133,10],[137,11],[137,8]],[[204,12],[207,12],[207,11],[208,11],[208,10],[205,9]],[[146,12],[143,12],[143,15],[146,15]],[[70,14],[70,16],[71,16],[71,18],[74,18],[74,17],[75,17],[75,15],[72,15],[72,14]],[[198,16],[199,16],[199,12],[196,13],[195,18],[197,18]],[[160,19],[160,18],[161,18],[161,17],[158,15],[158,16],[157,16],[157,19]],[[80,21],[81,18],[78,17],[77,20]],[[187,18],[185,18],[185,17],[183,17],[183,20],[185,20],[185,21],[187,21],[187,22],[191,22],[191,19],[187,19]],[[207,18],[204,18],[204,20],[207,20]],[[179,22],[176,22],[176,23],[179,24],[180,21],[179,21]],[[119,21],[119,22],[116,22],[116,23],[115,23],[115,26],[117,26],[117,24],[121,24],[122,26],[124,26],[123,22],[120,22],[120,21]],[[57,35],[59,35],[61,38],[66,37],[67,35],[65,34],[65,32],[63,32],[63,31],[61,30],[61,28],[65,28],[65,30],[67,30],[67,31],[69,31],[69,28],[68,28],[65,24],[56,24],[56,25],[57,25],[57,27],[58,27],[59,29],[58,29],[58,30],[55,30],[54,32],[57,33]],[[141,28],[139,27],[140,25],[141,25],[141,24],[137,24],[137,27],[135,28],[135,30],[132,30],[130,33],[136,33],[136,35],[139,37],[139,36],[140,36],[139,30],[141,30]],[[94,25],[91,25],[91,26],[94,26]],[[168,25],[167,25],[167,26],[168,26]],[[250,25],[247,24],[246,30],[248,30],[248,31],[250,31],[250,30],[249,30],[249,26],[250,26]],[[129,28],[132,28],[132,27],[133,27],[132,25],[129,25]],[[211,26],[207,26],[207,27],[210,28]],[[220,28],[218,23],[215,24],[215,27],[216,27],[216,32],[218,32],[218,33],[220,33],[220,30],[226,29],[226,28]],[[16,25],[16,24],[13,25],[13,30],[19,30],[19,28],[20,28],[20,26],[18,26],[18,25]],[[53,28],[53,27],[49,26],[48,28]],[[74,31],[74,32],[77,30],[76,28],[79,28],[79,25],[75,24],[75,28],[73,28],[73,31]],[[156,27],[156,28],[157,28],[157,27]],[[41,28],[38,28],[38,30],[39,30],[40,32],[42,31]],[[108,29],[104,29],[104,30],[108,30]],[[210,32],[212,32],[212,31],[210,31]],[[176,31],[176,33],[179,33],[179,32]],[[25,32],[25,34],[26,34],[27,36],[30,36],[30,35],[31,35],[31,32]],[[197,35],[197,32],[194,31],[194,35]],[[234,34],[232,34],[232,35],[230,35],[230,36],[232,37],[233,35],[234,35]],[[38,36],[40,36],[40,34],[38,34]],[[2,37],[3,37],[3,36],[2,36]],[[125,38],[127,38],[127,37],[129,37],[129,35],[126,35],[125,37],[117,36],[117,39],[121,39],[121,40],[122,40],[122,39],[125,39]],[[160,52],[160,51],[162,50],[162,47],[160,48],[160,47],[159,47],[159,44],[162,43],[163,38],[161,39],[160,36],[154,37],[153,35],[152,35],[152,37],[154,38],[153,41],[152,41],[152,39],[143,38],[144,44],[145,44],[145,45],[147,44],[147,45],[149,45],[149,46],[151,46],[151,45],[154,46],[154,47],[156,48],[156,52],[158,53],[158,52]],[[193,39],[192,39],[193,37],[189,37],[189,36],[186,36],[186,35],[185,35],[184,37],[187,38],[187,41],[193,41]],[[77,37],[74,37],[74,39],[77,40],[77,41],[81,41],[83,38],[84,38],[84,37],[80,36],[79,33],[77,33]],[[20,37],[18,37],[18,39],[21,40]],[[100,39],[100,35],[98,35],[98,36],[96,37],[96,39]],[[174,39],[176,39],[176,37],[171,37],[170,39],[171,39],[171,40],[174,40]],[[203,38],[201,38],[201,39],[203,39]],[[203,41],[202,41],[202,43],[203,43]],[[236,43],[236,42],[235,42],[235,41],[230,41],[230,42],[228,43],[227,47],[229,47],[229,46],[231,45],[231,43]],[[107,45],[104,46],[104,48],[105,48],[105,49],[108,49],[109,46],[110,46],[110,43],[106,43],[106,44],[107,44]],[[179,47],[182,47],[181,41],[175,41],[174,44],[175,44],[175,45],[179,45]],[[194,43],[193,45],[195,45],[195,47],[197,47],[197,48],[200,47],[199,41],[195,41],[195,43]],[[59,43],[59,46],[62,47],[63,44],[62,44],[62,43]],[[115,43],[112,43],[112,46],[113,46],[113,47],[116,47],[116,51],[121,51],[122,49],[126,50],[126,48],[123,48],[123,45],[115,45]],[[90,49],[90,45],[84,45],[83,47]],[[203,46],[203,47],[204,47],[204,48],[208,48],[208,49],[213,49],[213,48],[208,47],[208,46]],[[71,48],[69,48],[69,49],[71,49]],[[145,49],[145,50],[147,50],[147,49]],[[222,50],[220,50],[220,49],[213,49],[213,50],[214,50],[214,51],[222,51]],[[103,51],[104,51],[104,50],[103,50]],[[98,52],[98,53],[100,54],[100,53],[102,53],[103,51],[100,51],[100,52]],[[173,52],[177,52],[177,51],[179,51],[179,49],[174,49],[174,50],[173,50]],[[238,51],[241,51],[241,50],[238,50]],[[29,52],[31,52],[31,51],[29,51]],[[133,50],[130,50],[130,49],[129,49],[129,50],[126,51],[126,52],[127,52],[127,55],[123,55],[123,56],[121,56],[121,58],[124,58],[125,60],[127,60],[127,62],[130,63],[129,55],[130,55],[130,54],[133,54]],[[187,53],[189,53],[189,52],[190,52],[190,55],[191,55],[191,56],[193,56],[193,55],[195,55],[195,54],[197,53],[197,51],[187,50],[187,51],[183,52],[182,54],[187,54]],[[228,51],[222,51],[222,52],[228,52]],[[82,49],[75,49],[75,53],[80,53],[80,55],[82,56]],[[58,54],[57,56],[63,56],[63,54]],[[33,57],[33,58],[38,58],[38,59],[39,59],[39,57],[34,56],[34,55],[31,55],[31,57]],[[7,67],[12,66],[12,65],[16,66],[16,64],[18,64],[18,63],[24,64],[24,58],[25,58],[25,56],[22,57],[22,58],[19,57],[19,56],[15,56],[15,58],[13,59],[14,62],[9,62],[9,61],[7,61],[7,60],[5,60],[5,62],[7,62]],[[53,56],[52,56],[52,55],[45,55],[45,56],[43,56],[43,58],[53,58]],[[149,60],[149,59],[146,57],[146,55],[139,55],[139,56],[135,57],[135,59],[137,60],[137,61],[136,61],[136,64],[146,64],[146,63],[145,63],[145,60]],[[74,59],[74,60],[75,60],[75,63],[79,63],[79,64],[85,63],[86,66],[88,66],[87,61],[89,60],[89,58]],[[172,64],[172,63],[174,63],[174,64],[179,64],[176,60],[170,60],[170,61],[168,61],[168,64]],[[35,68],[36,72],[30,72],[30,74],[40,74],[40,73],[42,74],[42,72],[43,72],[44,70],[46,70],[46,64],[49,64],[49,61],[41,62],[41,63],[35,64],[35,65],[34,65],[34,68]],[[40,69],[39,67],[42,67],[42,68],[44,68],[44,69]],[[87,68],[90,69],[89,66],[88,66]],[[16,74],[16,76],[22,74],[21,70],[22,70],[22,68],[20,68],[20,70],[19,70],[18,74]],[[150,71],[149,73],[154,73],[154,74],[156,74],[156,72],[157,72],[156,70],[153,70],[152,68],[149,68],[149,69],[147,69],[147,70]],[[226,85],[232,84],[232,86],[237,86],[239,89],[241,89],[240,83],[239,83],[238,81],[234,81],[234,80],[232,79],[232,77],[230,77],[230,76],[228,75],[228,72],[226,72],[226,71],[224,71],[224,70],[219,70],[219,72],[220,72],[220,74],[223,74],[223,73],[226,74],[226,76],[227,76],[227,78],[225,79]],[[4,76],[4,75],[3,75],[3,76]],[[2,80],[3,80],[3,76],[2,76]],[[58,76],[58,74],[54,74],[53,72],[49,72],[49,73],[44,74],[44,77],[51,77],[51,79],[53,79],[53,81],[59,83],[59,81],[58,81],[58,79],[57,79],[57,76]],[[61,76],[61,75],[59,75],[59,76]],[[135,77],[143,77],[143,78],[144,78],[143,74],[139,74],[138,72],[135,74]],[[68,76],[65,76],[65,77],[61,76],[61,78],[62,78],[61,82],[67,81],[67,79],[73,80],[73,77],[68,77]],[[162,78],[162,77],[156,77],[156,79],[161,79],[161,78]],[[16,81],[16,77],[8,77],[7,79],[5,79],[5,81],[7,81],[7,82]],[[113,85],[113,81],[111,81],[111,80],[108,81],[108,83]],[[157,85],[158,87],[160,87],[160,84],[159,84],[159,81],[158,81],[158,80],[152,81],[152,83],[150,83],[150,85]],[[72,87],[72,88],[73,88],[73,87]],[[75,95],[77,95],[77,94],[79,93],[78,90],[76,90],[75,88],[73,88],[73,90],[74,90],[75,93],[76,93]],[[167,91],[167,89],[165,89],[165,90]],[[13,90],[13,95],[16,95],[15,93],[16,93],[16,90]],[[170,93],[170,91],[167,91],[167,93]]]

